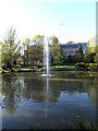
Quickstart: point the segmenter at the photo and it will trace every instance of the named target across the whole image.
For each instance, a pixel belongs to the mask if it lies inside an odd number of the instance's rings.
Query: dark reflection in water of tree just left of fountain
[[[25,78],[26,87],[22,96],[24,98],[33,98],[34,103],[44,103],[44,81],[37,78]]]

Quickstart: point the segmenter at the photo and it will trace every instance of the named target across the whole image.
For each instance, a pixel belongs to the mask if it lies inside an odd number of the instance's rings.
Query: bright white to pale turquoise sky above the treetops
[[[56,35],[61,44],[86,43],[96,35],[96,1],[0,0],[0,40],[10,26],[20,39]]]

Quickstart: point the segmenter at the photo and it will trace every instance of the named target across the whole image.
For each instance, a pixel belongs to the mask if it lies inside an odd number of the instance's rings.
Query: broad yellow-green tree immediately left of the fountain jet
[[[28,46],[29,43],[33,43],[33,45]],[[28,59],[33,63],[33,67],[34,63],[41,63],[44,58],[44,36],[35,35],[32,40],[24,38],[23,44],[24,48],[26,46],[24,51],[24,63],[25,60],[28,62]]]

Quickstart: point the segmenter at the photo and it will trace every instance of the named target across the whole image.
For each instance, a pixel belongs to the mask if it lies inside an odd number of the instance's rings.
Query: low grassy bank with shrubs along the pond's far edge
[[[44,68],[12,68],[8,70],[1,70],[0,73],[11,73],[11,72],[42,72]],[[78,62],[72,66],[52,66],[50,71],[94,71],[98,72],[97,63],[83,63]]]

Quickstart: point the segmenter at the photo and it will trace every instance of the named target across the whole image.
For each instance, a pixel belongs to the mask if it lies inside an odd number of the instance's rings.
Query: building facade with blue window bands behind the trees
[[[62,44],[61,49],[62,52],[65,57],[68,56],[73,56],[76,51],[78,51],[78,45],[82,45],[83,53],[86,51],[86,45],[87,43],[68,43],[68,44]]]

